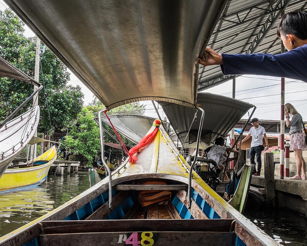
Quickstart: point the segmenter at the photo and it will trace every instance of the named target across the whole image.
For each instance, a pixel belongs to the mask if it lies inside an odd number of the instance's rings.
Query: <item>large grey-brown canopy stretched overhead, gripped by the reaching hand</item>
[[[109,110],[195,105],[197,57],[225,0],[5,0]]]

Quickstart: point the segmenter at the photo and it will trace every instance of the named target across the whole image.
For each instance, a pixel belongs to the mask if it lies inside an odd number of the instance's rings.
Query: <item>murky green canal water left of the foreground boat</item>
[[[89,188],[87,171],[48,174],[36,188],[0,194],[0,236],[37,219]]]

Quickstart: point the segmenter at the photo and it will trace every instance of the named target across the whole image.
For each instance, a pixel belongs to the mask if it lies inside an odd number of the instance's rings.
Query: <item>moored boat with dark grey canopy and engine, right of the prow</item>
[[[200,149],[203,150],[212,146],[217,137],[226,138],[243,115],[252,107],[255,108],[254,105],[237,99],[205,92],[197,93],[196,100],[198,107],[205,111],[199,143]],[[195,117],[196,109],[162,101],[159,103],[177,133],[182,148],[196,148],[197,133],[200,127],[200,121]],[[245,163],[245,156],[239,155],[231,174],[230,183],[227,184],[214,175],[213,169],[218,169],[218,167],[213,167],[206,162],[206,159],[198,158],[202,164],[199,163],[196,169],[200,177],[226,200],[229,200],[229,203],[239,212],[244,210],[251,182],[251,165]],[[192,164],[189,159],[190,157],[188,157],[188,163]],[[200,165],[212,168],[204,168],[205,171],[201,171]],[[223,177],[223,174],[221,176]]]

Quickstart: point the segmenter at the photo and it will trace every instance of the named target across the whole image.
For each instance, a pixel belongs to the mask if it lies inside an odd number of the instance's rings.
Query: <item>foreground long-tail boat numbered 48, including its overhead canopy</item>
[[[109,110],[141,100],[197,107],[196,60],[227,1],[6,3]],[[136,164],[127,158],[0,245],[278,245],[190,168],[161,125],[148,134],[129,156]]]

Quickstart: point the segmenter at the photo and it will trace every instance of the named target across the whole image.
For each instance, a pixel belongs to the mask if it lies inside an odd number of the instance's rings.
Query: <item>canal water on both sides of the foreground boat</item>
[[[0,194],[0,236],[52,211],[87,188],[87,171],[79,171],[64,176],[52,173],[37,188]],[[304,216],[289,210],[249,210],[244,215],[282,245],[307,245]]]

